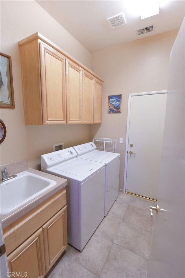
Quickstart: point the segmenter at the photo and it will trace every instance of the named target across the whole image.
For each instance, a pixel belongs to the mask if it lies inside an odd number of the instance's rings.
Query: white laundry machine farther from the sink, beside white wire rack
[[[118,197],[120,154],[108,151],[98,151],[96,150],[96,146],[93,142],[78,145],[73,148],[77,152],[77,157],[81,159],[105,163],[106,175],[104,216],[106,216]]]

